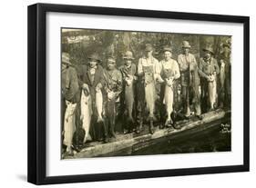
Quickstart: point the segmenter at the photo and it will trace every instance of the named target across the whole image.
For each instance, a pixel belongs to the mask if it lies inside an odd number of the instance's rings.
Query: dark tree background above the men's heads
[[[108,54],[117,57],[118,66],[123,64],[122,56],[129,50],[134,54],[135,63],[143,54],[146,44],[154,46],[154,56],[161,60],[162,47],[170,45],[173,49],[173,58],[177,59],[181,53],[182,41],[187,40],[191,45],[190,53],[199,58],[202,47],[211,46],[218,58],[222,51],[223,43],[230,43],[231,36],[224,35],[190,35],[172,33],[150,33],[150,32],[123,32],[110,30],[92,29],[63,29],[62,51],[70,54],[73,64],[87,64],[87,56],[97,52],[106,64]]]

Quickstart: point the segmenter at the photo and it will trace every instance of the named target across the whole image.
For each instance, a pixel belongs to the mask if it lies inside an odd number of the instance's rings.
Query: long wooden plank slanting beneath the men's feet
[[[223,110],[216,110],[207,114],[203,114],[203,119],[191,119],[190,121],[180,121],[181,128],[179,130],[168,128],[158,129],[154,134],[121,134],[117,139],[110,143],[91,143],[88,147],[82,149],[79,153],[75,153],[74,156],[69,158],[87,158],[97,156],[110,156],[110,153],[128,153],[132,151],[138,151],[141,148],[147,147],[150,144],[159,142],[159,140],[169,139],[169,137],[175,137],[182,134],[191,134],[193,131],[199,132],[215,126],[212,124],[218,122],[220,124],[223,119],[230,119],[230,112]],[[67,158],[66,158],[67,159]]]

